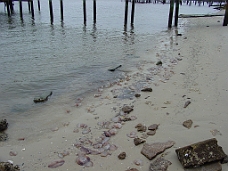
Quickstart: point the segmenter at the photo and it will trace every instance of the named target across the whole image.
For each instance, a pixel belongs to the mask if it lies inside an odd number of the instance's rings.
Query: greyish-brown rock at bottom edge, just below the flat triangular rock
[[[158,158],[150,164],[149,171],[166,171],[172,163],[164,158]]]

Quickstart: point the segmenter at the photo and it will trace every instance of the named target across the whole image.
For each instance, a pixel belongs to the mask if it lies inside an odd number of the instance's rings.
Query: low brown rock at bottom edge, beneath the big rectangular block
[[[219,162],[215,162],[197,168],[188,168],[184,171],[222,171],[222,165]]]

